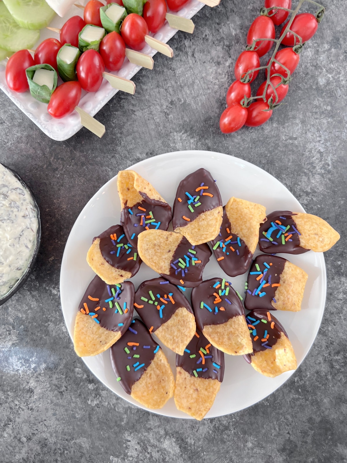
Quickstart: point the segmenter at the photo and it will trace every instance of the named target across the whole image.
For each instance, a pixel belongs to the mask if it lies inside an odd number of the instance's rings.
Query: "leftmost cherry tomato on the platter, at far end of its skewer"
[[[34,59],[28,50],[19,50],[12,55],[6,64],[6,83],[8,87],[18,93],[29,90],[25,69],[34,64]]]

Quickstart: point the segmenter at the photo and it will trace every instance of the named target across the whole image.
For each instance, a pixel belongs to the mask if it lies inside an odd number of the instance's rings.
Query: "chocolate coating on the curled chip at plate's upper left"
[[[141,193],[141,191],[139,191],[139,194],[143,197],[143,201],[136,203],[132,207],[125,205],[120,213],[120,223],[124,228],[125,236],[127,237],[131,246],[134,246],[135,248],[137,247],[137,236],[146,230],[146,226],[149,228],[149,230],[153,230],[160,222],[158,229],[166,231],[172,219],[171,206],[169,204],[158,200],[152,200],[149,198],[149,196],[147,196],[147,194]],[[146,212],[139,209],[139,207],[146,209]],[[131,210],[132,214],[129,212],[129,209]],[[146,224],[145,222],[147,220],[153,220],[151,218],[146,218],[146,216],[150,215],[150,212],[152,213],[155,221]],[[141,216],[143,214],[145,214],[145,220],[143,220],[143,225],[140,225]],[[134,238],[131,238],[134,233]]]

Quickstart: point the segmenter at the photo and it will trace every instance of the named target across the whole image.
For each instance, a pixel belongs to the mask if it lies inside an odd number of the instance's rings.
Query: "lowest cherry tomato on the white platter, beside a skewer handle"
[[[81,85],[77,81],[59,85],[50,97],[47,111],[56,119],[60,119],[74,111],[81,99]]]

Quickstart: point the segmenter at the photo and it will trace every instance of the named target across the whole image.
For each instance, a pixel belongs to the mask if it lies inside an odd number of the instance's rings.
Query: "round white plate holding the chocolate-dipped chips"
[[[211,151],[178,151],[146,159],[129,169],[136,170],[148,180],[172,206],[179,182],[201,167],[209,170],[217,180],[223,204],[231,196],[235,196],[266,206],[267,213],[275,210],[304,212],[294,196],[272,175],[253,164],[226,154]],[[119,219],[120,201],[116,175],[100,188],[83,208],[66,243],[62,258],[60,290],[62,312],[71,338],[78,304],[94,277],[93,270],[86,262],[87,250],[94,236],[98,236],[111,225],[118,224]],[[256,254],[259,254],[259,251],[256,251]],[[290,254],[281,254],[281,256],[304,269],[309,275],[301,312],[276,312],[276,317],[285,327],[294,347],[297,364],[300,365],[316,338],[323,316],[326,295],[324,257],[322,253],[313,251],[298,256]],[[156,276],[158,275],[143,263],[139,272],[131,280],[137,288],[144,280]],[[203,278],[207,280],[215,276],[230,280],[212,256],[204,269]],[[247,274],[231,278],[234,289],[242,296],[246,280]],[[186,294],[189,297],[189,291],[186,291]],[[162,348],[175,373],[175,354],[163,345]],[[108,350],[95,357],[84,357],[82,360],[105,386],[125,400],[144,408],[126,394],[116,381]],[[267,378],[257,373],[243,357],[225,354],[224,380],[206,418],[234,413],[257,403],[272,394],[292,373],[287,372],[276,378]],[[189,418],[176,409],[173,398],[161,410],[154,412],[176,418]]]

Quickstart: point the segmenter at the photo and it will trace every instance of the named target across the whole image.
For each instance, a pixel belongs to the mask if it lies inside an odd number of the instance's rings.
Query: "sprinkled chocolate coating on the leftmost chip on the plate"
[[[118,292],[119,289],[120,292]],[[99,325],[106,328],[106,330],[120,331],[123,336],[131,323],[134,312],[134,295],[135,288],[132,282],[124,282],[119,286],[107,285],[96,275],[89,283],[87,291],[80,302],[79,310],[86,311],[84,304],[87,304],[89,314],[86,314],[86,317],[97,314],[98,316],[94,318],[96,323],[99,322]],[[98,300],[91,300],[88,296]],[[121,307],[122,314],[118,310],[116,302]],[[128,309],[127,313],[124,313],[124,302]],[[115,313],[116,310],[117,313]],[[118,326],[119,323],[123,323],[123,326]]]

